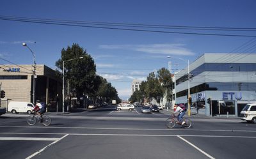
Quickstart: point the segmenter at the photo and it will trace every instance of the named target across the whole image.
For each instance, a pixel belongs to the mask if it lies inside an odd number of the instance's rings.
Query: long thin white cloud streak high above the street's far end
[[[187,49],[182,43],[164,43],[150,45],[100,45],[100,49],[125,49],[146,52],[148,54],[168,54],[179,56],[193,56],[194,52]]]

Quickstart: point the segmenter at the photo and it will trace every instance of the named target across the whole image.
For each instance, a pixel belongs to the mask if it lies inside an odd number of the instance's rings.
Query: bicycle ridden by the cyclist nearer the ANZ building
[[[34,112],[33,116],[29,116],[27,119],[28,125],[35,125],[36,123],[42,123],[44,126],[49,126],[52,123],[52,119],[49,116],[40,117],[38,114]]]

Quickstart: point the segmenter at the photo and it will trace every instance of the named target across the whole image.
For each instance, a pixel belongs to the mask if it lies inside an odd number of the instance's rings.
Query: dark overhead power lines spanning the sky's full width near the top
[[[152,24],[127,24],[127,23],[109,23],[109,22],[86,22],[86,21],[75,21],[75,20],[54,20],[54,19],[35,19],[27,17],[10,17],[1,16],[0,20],[10,20],[16,22],[29,22],[36,24],[52,24],[58,26],[76,26],[76,27],[91,27],[98,29],[115,29],[115,30],[125,30],[125,31],[141,31],[150,33],[169,33],[169,34],[194,34],[194,35],[209,35],[209,36],[237,36],[237,37],[256,37],[252,34],[220,34],[220,33],[191,33],[191,32],[175,32],[175,31],[165,31],[161,29],[193,29],[201,31],[256,31],[253,27],[200,27],[200,26],[161,26]],[[115,27],[109,27],[115,26]],[[137,29],[134,29],[136,27]],[[140,27],[150,27],[157,30],[147,30],[138,29]]]

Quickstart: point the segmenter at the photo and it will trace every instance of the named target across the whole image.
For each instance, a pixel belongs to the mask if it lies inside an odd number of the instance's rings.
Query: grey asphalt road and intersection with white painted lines
[[[50,126],[29,126],[27,114],[4,114],[0,158],[255,158],[256,125],[191,116],[191,128],[168,129],[164,121],[169,114],[106,107],[49,113]]]

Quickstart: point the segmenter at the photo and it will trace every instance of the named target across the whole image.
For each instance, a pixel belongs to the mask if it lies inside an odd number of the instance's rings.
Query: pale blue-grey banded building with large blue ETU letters
[[[175,103],[207,116],[239,116],[246,103],[256,102],[256,54],[209,53],[175,73]],[[188,82],[189,81],[189,82]]]

